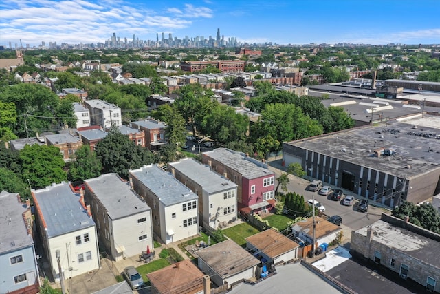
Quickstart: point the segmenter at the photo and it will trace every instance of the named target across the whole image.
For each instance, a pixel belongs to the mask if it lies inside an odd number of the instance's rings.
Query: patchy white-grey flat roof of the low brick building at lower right
[[[395,227],[383,220],[373,222],[370,227],[373,232],[373,240],[376,242],[440,268],[438,257],[440,242],[423,237],[417,233],[412,233],[412,231]],[[358,229],[356,233],[366,236],[367,231],[368,228],[363,227]]]

